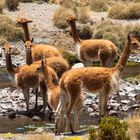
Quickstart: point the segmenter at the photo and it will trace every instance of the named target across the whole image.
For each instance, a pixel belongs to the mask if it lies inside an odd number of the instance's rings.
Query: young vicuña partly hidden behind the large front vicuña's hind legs
[[[38,74],[42,74],[44,76],[47,76],[46,75],[46,67],[45,67],[45,62],[44,60],[41,61],[41,66],[37,68],[37,73]],[[46,85],[48,87],[48,92],[46,94],[47,97],[48,97],[48,104],[49,106],[55,111],[57,109],[57,106],[58,106],[58,103],[59,103],[59,98],[60,98],[60,86],[58,84],[54,84],[54,82],[52,82],[53,79],[46,79],[45,82],[46,82]],[[73,97],[73,99],[75,99],[75,97]],[[65,96],[65,106],[63,106],[64,110],[66,109],[67,107],[67,104],[70,102],[70,98],[69,96]],[[76,102],[75,102],[75,106],[74,106],[74,128],[77,129],[78,128],[78,120],[79,120],[79,112],[82,108],[82,103],[83,103],[83,98],[82,98],[82,95],[80,95],[78,98],[76,97]],[[64,111],[63,110],[63,111]],[[61,112],[61,113],[64,113],[64,112]],[[62,125],[62,122],[61,122],[61,125]]]

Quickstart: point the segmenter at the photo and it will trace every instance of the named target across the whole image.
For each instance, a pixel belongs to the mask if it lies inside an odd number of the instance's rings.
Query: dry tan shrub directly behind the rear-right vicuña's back
[[[113,23],[110,20],[99,22],[93,31],[94,39],[108,39],[112,41],[119,49],[124,46],[126,41],[126,32],[122,24]]]

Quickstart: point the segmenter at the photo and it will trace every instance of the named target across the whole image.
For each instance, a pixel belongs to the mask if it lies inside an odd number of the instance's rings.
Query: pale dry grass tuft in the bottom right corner
[[[128,135],[131,140],[140,139],[140,116],[135,115],[126,121],[128,122]]]

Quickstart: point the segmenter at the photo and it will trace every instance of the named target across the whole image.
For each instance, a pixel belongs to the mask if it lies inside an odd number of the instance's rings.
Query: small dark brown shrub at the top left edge
[[[15,11],[19,6],[19,0],[6,0],[6,5],[9,11]]]

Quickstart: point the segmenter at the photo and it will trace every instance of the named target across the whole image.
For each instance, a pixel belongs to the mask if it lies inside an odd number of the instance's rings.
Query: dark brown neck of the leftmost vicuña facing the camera
[[[9,74],[14,74],[15,71],[14,71],[14,68],[13,68],[13,65],[12,65],[11,55],[10,54],[5,54],[5,60],[6,60],[7,72]]]

